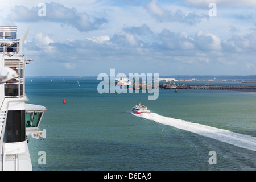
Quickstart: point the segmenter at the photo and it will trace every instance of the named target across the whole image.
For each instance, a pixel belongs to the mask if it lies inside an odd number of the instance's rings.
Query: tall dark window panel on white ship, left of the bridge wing
[[[6,121],[6,142],[26,140],[25,110],[9,110]]]

